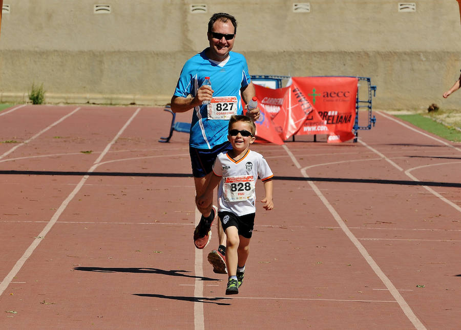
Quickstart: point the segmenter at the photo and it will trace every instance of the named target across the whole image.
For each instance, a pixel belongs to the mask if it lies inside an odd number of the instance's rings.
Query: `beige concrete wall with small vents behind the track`
[[[184,61],[207,47],[209,17],[224,11],[237,17],[234,50],[250,74],[366,76],[374,108],[457,108],[461,91],[442,94],[461,69],[458,4],[412,1],[411,13],[399,0],[311,0],[295,13],[287,0],[4,0],[0,100],[27,100],[43,83],[51,102],[163,105]]]

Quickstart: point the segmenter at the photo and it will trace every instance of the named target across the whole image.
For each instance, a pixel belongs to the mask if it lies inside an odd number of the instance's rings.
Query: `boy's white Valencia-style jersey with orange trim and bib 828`
[[[264,157],[251,150],[237,161],[227,153],[220,153],[213,165],[213,173],[222,178],[218,188],[218,210],[238,216],[256,212],[258,177],[266,181],[274,176]]]

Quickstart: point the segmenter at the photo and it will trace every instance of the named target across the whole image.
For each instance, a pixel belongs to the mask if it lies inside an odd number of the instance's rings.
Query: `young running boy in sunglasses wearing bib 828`
[[[232,150],[220,153],[213,165],[214,175],[199,203],[209,199],[218,188],[218,216],[227,235],[226,266],[229,280],[226,295],[239,293],[249,254],[249,242],[255,224],[255,184],[258,176],[264,182],[263,208],[272,210],[274,176],[264,157],[249,150],[255,141],[255,123],[244,115],[234,115],[229,121],[227,138]]]

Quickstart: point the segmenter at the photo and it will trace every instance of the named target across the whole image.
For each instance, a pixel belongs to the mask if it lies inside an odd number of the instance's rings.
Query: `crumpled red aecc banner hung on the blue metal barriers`
[[[293,77],[291,80],[289,87],[279,89],[255,85],[264,117],[257,122],[257,137],[274,143],[277,134],[282,140],[295,134],[327,134],[330,143],[354,137],[358,78]]]

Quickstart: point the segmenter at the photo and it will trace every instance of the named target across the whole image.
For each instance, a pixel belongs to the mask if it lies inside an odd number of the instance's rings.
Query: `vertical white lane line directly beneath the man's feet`
[[[200,222],[202,214],[198,209],[195,209],[195,225],[197,226]],[[194,246],[195,248],[195,246]],[[203,250],[195,249],[195,280],[194,286],[194,297],[203,297]],[[203,314],[203,303],[200,301],[194,302],[194,329],[203,330],[205,328],[205,320]]]

